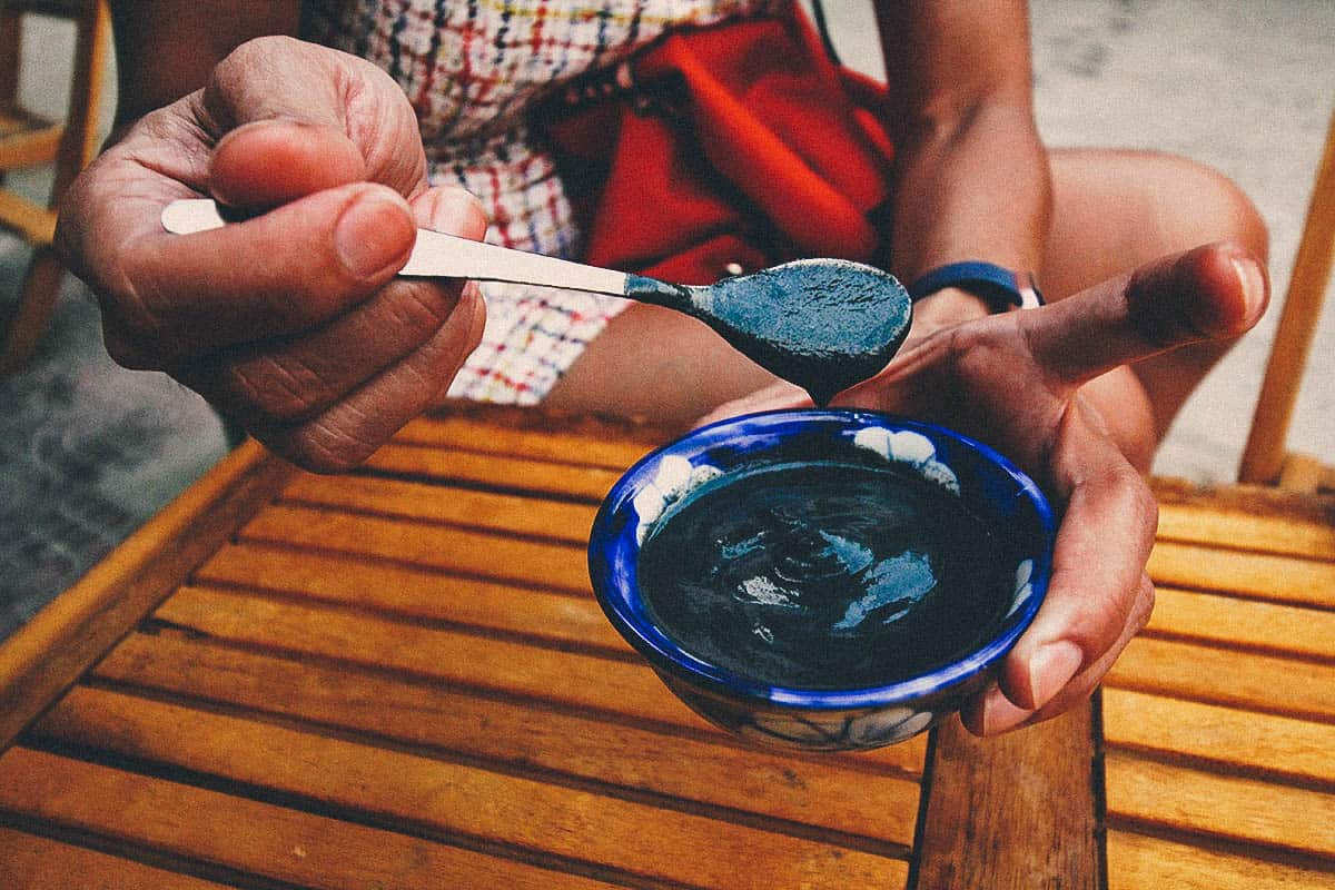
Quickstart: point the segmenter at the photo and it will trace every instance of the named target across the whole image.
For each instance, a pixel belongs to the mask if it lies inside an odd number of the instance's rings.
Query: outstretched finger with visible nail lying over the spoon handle
[[[207,232],[159,228],[121,246],[115,323],[156,360],[306,331],[383,287],[415,239],[407,201],[366,183]]]

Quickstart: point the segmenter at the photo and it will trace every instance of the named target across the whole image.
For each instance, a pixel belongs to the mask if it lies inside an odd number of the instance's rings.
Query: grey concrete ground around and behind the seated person
[[[870,0],[825,0],[846,61],[878,71]],[[1037,0],[1039,123],[1053,145],[1179,152],[1255,200],[1271,230],[1275,307],[1200,387],[1164,442],[1156,472],[1228,482],[1236,472],[1288,283],[1312,175],[1335,100],[1330,0]],[[28,31],[24,96],[61,113],[72,35]],[[103,120],[109,120],[108,96]],[[43,199],[44,171],[11,175]],[[0,300],[27,250],[0,235]],[[1335,462],[1335,311],[1304,379],[1292,448]],[[24,372],[0,380],[0,636],[224,454],[222,427],[194,394],[116,368],[96,311],[73,280]]]

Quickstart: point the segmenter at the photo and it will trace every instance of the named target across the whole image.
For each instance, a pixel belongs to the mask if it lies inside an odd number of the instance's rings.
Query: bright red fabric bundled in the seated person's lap
[[[605,171],[585,209],[585,260],[685,284],[798,256],[870,260],[889,199],[885,89],[834,65],[805,19],[677,33],[639,57],[680,113],[630,101],[551,128]],[[655,87],[657,85],[657,87]]]

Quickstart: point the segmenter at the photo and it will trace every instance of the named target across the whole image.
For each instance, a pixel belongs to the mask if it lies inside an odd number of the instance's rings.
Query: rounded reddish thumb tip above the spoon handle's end
[[[259,120],[218,143],[208,191],[231,207],[268,208],[366,179],[366,161],[343,127]]]

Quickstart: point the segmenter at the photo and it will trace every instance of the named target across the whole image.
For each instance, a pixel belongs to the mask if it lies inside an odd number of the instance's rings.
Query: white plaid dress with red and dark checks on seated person
[[[310,0],[306,32],[392,76],[417,111],[433,184],[487,212],[487,240],[578,259],[581,234],[538,103],[617,65],[668,29],[786,8],[792,0]],[[627,306],[574,291],[485,283],[487,327],[450,395],[535,404]]]

